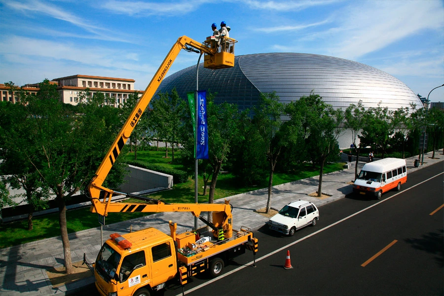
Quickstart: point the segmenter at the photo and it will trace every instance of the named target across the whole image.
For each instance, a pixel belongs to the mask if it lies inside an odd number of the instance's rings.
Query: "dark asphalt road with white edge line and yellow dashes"
[[[438,175],[438,176],[437,176]],[[434,177],[436,176],[436,177]],[[321,219],[287,237],[256,231],[256,267],[247,252],[212,280],[199,275],[187,295],[444,295],[442,163],[408,175],[381,200],[350,195],[320,208]],[[284,269],[290,251],[292,269]],[[85,287],[83,295],[93,294]],[[182,295],[169,283],[159,295]]]

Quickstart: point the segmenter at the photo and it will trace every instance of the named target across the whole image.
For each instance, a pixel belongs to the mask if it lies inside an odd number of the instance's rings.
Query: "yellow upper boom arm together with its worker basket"
[[[87,191],[89,192],[89,196],[92,199],[91,201],[93,202],[94,206],[99,202],[99,196],[101,190],[105,191],[103,202],[106,202],[107,199],[111,200],[113,191],[109,188],[103,187],[102,184],[105,181],[105,178],[108,176],[111,167],[115,162],[115,159],[120,154],[120,151],[122,150],[126,141],[130,137],[132,131],[134,130],[134,127],[136,126],[137,122],[142,116],[142,113],[148,107],[148,104],[151,101],[152,96],[156,92],[157,88],[160,85],[160,82],[167,74],[168,70],[170,69],[171,65],[173,64],[179,52],[182,49],[185,49],[188,51],[199,52],[201,54],[204,53],[206,58],[204,66],[206,68],[221,69],[221,68],[233,67],[234,42],[237,41],[234,39],[230,39],[230,41],[232,41],[232,48],[233,48],[232,52],[218,52],[217,47],[212,46],[211,45],[212,43],[210,41],[208,41],[208,43],[202,44],[186,36],[182,36],[179,37],[179,39],[177,39],[176,43],[173,45],[170,52],[166,56],[165,60],[160,65],[156,74],[152,78],[151,82],[149,82],[147,89],[145,90],[142,97],[139,99],[137,105],[134,107],[131,114],[129,115],[128,119],[126,120],[125,124],[123,125],[122,129],[120,130],[119,134],[114,140],[114,143],[112,144],[110,150],[105,155],[104,159],[102,160],[102,163],[97,169],[94,178],[87,187]],[[207,57],[211,57],[211,59],[207,59]],[[96,212],[106,216],[106,212],[101,213],[101,211],[99,211],[98,209],[96,209]]]

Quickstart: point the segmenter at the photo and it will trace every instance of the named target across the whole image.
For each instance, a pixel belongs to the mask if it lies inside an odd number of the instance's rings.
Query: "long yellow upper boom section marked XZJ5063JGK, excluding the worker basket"
[[[159,87],[160,82],[165,77],[168,70],[170,69],[170,66],[173,64],[174,60],[176,59],[177,55],[182,49],[205,53],[206,55],[215,54],[215,51],[212,48],[209,48],[204,44],[197,42],[189,37],[182,36],[179,37],[179,39],[177,39],[177,42],[171,48],[165,60],[163,61],[163,63],[157,70],[156,74],[152,78],[151,82],[149,82],[144,94],[139,99],[137,105],[134,107],[130,116],[128,117],[122,129],[120,130],[119,134],[117,135],[116,139],[114,140],[114,143],[112,144],[110,150],[105,155],[105,158],[102,160],[102,163],[100,164],[99,168],[96,171],[95,177],[88,185],[90,198],[92,199],[99,198],[101,190],[105,190],[106,191],[105,195],[109,195],[105,196],[105,198],[111,197],[112,190],[103,187],[102,184],[105,181],[105,178],[108,176],[111,167],[115,162],[115,159],[120,154],[120,151],[122,150],[126,141],[133,132],[134,127],[139,121],[139,118],[142,116],[142,113],[148,107],[148,104],[151,101],[151,98],[153,97],[157,88]]]

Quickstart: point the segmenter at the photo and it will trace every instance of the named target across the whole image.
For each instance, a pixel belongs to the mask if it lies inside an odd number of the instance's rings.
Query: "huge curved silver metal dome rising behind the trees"
[[[164,79],[158,91],[179,95],[196,89],[196,66]],[[276,91],[281,102],[296,101],[313,90],[324,102],[345,110],[360,100],[366,108],[396,110],[422,104],[413,91],[394,76],[350,60],[303,53],[260,53],[235,57],[234,67],[210,70],[199,65],[199,89],[216,94],[216,102],[235,103],[239,109],[256,105],[260,92]]]

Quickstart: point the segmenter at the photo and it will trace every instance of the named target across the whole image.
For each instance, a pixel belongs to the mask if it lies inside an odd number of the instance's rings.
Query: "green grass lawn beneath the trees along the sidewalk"
[[[134,153],[125,155],[134,159]],[[138,151],[138,160],[148,161],[157,165],[172,166],[176,169],[183,169],[181,165],[172,165],[171,158],[164,158],[165,151]],[[171,151],[168,152],[171,157]],[[180,157],[180,153],[175,152],[175,157]],[[344,163],[328,164],[325,166],[324,173],[330,173],[341,170]],[[300,179],[305,179],[319,174],[318,170],[313,170],[311,166],[299,168],[296,174],[276,173],[273,177],[273,185],[284,184]],[[209,184],[208,184],[209,185]],[[199,202],[208,201],[207,195],[203,196],[203,181],[198,180],[198,199]],[[257,190],[260,187],[239,187],[235,178],[231,174],[222,174],[218,178],[215,199],[225,198],[243,192]],[[173,189],[157,192],[149,195],[151,198],[161,199],[169,203],[192,203],[194,202],[194,180],[188,179],[188,182],[174,185]],[[141,202],[140,200],[129,200],[130,202]],[[128,202],[128,200],[126,201]],[[146,213],[110,213],[106,218],[106,223],[126,221],[147,215]],[[100,226],[96,214],[89,212],[89,208],[70,210],[67,212],[68,232],[76,232],[84,229]],[[49,238],[60,235],[58,213],[35,217],[33,219],[34,229],[28,231],[27,221],[11,222],[0,225],[0,248],[15,246],[27,242],[36,241],[43,238]]]

